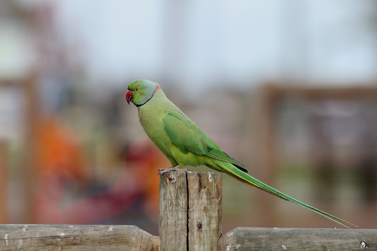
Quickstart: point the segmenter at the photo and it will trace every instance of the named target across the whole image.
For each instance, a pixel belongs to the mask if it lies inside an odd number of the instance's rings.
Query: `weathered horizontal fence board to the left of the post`
[[[129,225],[0,225],[0,250],[159,251],[160,238]]]

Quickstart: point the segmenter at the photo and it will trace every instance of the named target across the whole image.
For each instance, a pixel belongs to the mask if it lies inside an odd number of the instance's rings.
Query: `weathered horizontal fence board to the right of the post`
[[[377,250],[376,229],[247,228],[220,236],[217,250],[225,251],[352,251]]]

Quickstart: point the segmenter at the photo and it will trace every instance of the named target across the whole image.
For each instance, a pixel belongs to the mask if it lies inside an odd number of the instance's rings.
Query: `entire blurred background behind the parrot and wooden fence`
[[[377,228],[376,68],[375,0],[1,0],[0,223],[158,235],[146,78],[252,176]],[[225,175],[235,227],[341,226]]]

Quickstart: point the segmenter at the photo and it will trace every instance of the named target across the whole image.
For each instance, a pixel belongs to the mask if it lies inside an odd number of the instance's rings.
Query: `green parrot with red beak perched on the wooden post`
[[[158,169],[159,174],[170,170],[187,170],[180,169],[185,166],[208,166],[216,171],[227,173],[250,187],[291,201],[345,227],[347,226],[341,222],[353,225],[285,195],[248,175],[245,165],[222,151],[189,117],[167,99],[157,83],[146,79],[132,82],[128,86],[126,100],[128,104],[133,102],[136,105],[144,131],[172,164],[165,169]]]

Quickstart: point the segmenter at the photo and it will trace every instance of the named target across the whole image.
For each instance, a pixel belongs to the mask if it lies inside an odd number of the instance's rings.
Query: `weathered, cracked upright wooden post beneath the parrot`
[[[160,175],[161,251],[215,251],[222,232],[222,174]]]

